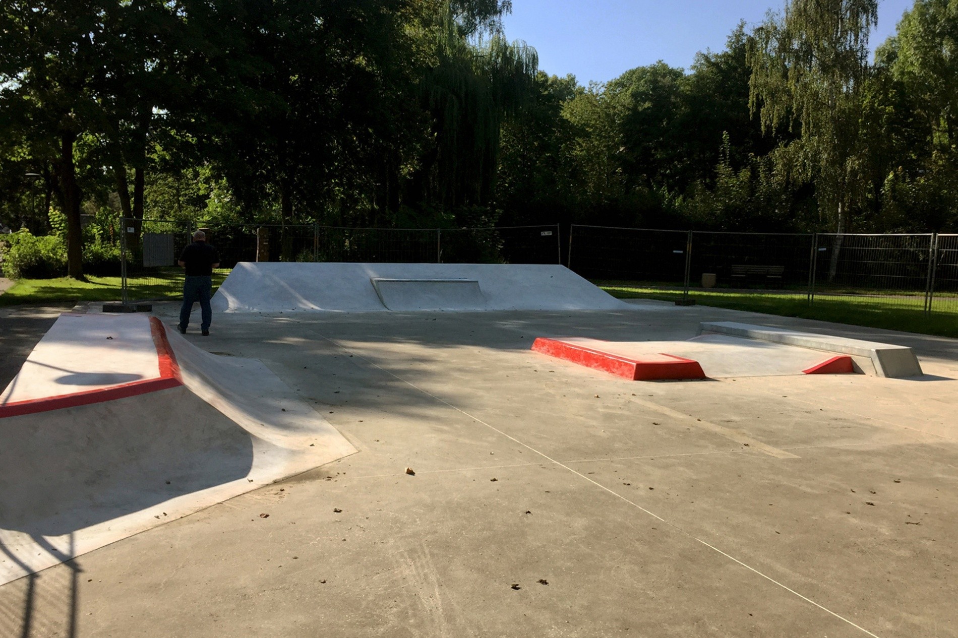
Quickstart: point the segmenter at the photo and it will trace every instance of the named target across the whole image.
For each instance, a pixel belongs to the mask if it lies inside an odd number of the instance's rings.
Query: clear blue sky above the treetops
[[[878,0],[873,49],[912,5]],[[535,47],[546,73],[571,73],[584,85],[659,59],[688,69],[696,52],[724,49],[739,20],[754,25],[784,7],[784,0],[513,0],[506,37]]]

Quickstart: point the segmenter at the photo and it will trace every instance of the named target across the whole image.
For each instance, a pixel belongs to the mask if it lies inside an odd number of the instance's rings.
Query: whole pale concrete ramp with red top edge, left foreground
[[[256,359],[62,315],[0,395],[0,583],[355,449]]]

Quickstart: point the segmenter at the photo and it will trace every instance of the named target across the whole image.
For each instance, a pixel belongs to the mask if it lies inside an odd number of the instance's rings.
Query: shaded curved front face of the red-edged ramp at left
[[[249,433],[183,387],[2,426],[0,528],[34,538],[241,479],[253,464]]]

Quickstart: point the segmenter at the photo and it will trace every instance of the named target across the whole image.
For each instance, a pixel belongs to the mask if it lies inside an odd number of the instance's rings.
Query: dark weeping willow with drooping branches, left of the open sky
[[[501,29],[484,36],[474,27],[474,16],[464,23],[445,6],[434,32],[434,63],[421,84],[431,144],[412,198],[446,211],[490,203],[501,126],[532,102],[535,90],[536,51],[507,42]]]

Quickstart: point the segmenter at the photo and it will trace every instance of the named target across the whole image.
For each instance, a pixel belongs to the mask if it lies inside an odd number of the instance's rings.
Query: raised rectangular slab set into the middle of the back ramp
[[[487,299],[474,279],[370,280],[382,305],[390,310],[468,310]]]

